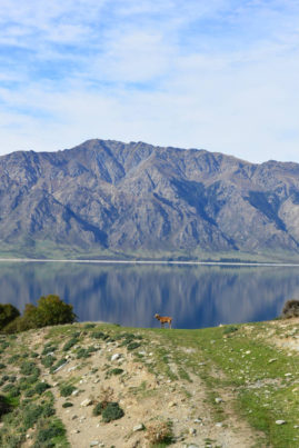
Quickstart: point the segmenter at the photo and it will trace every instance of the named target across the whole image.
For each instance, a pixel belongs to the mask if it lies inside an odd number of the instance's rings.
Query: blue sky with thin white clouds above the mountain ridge
[[[0,4],[0,155],[100,138],[299,162],[299,0]]]

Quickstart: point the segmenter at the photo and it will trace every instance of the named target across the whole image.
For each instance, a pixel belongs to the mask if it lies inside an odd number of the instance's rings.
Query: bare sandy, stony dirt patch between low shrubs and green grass
[[[88,347],[90,342],[87,338],[80,346]],[[142,362],[117,342],[101,344],[83,364],[69,356],[68,364],[57,374],[43,372],[44,379],[54,386],[57,415],[67,428],[71,447],[149,447],[155,436],[159,439],[167,421],[171,422],[173,447],[247,448],[259,439],[260,435],[235,414],[231,390],[219,391],[216,407],[221,407],[226,419],[217,421],[198,376],[187,371],[190,380],[157,377],[148,371],[152,365],[150,347],[142,348],[140,356]],[[123,372],[110,375],[114,368]],[[175,375],[176,366],[172,369]],[[68,398],[59,391],[63,382],[76,384],[76,391]],[[121,419],[104,424],[101,416],[92,415],[94,405],[104,397],[119,402],[124,411]],[[72,407],[63,408],[66,401]]]

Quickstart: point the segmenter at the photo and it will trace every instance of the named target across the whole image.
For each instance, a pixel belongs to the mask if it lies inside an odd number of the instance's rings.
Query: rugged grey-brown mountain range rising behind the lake
[[[0,245],[39,242],[299,255],[299,165],[111,140],[0,157]]]

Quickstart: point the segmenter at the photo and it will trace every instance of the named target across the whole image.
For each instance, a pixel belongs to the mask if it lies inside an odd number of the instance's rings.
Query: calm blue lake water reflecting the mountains
[[[201,328],[277,317],[299,297],[298,267],[127,266],[0,262],[0,302],[23,310],[42,295],[73,305],[80,321]]]

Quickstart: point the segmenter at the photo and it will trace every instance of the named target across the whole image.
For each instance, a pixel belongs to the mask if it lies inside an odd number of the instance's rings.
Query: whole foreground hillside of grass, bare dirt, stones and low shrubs
[[[299,319],[0,337],[3,447],[299,447]]]

